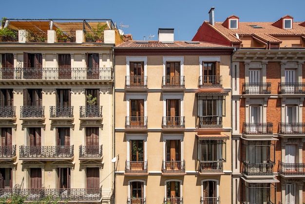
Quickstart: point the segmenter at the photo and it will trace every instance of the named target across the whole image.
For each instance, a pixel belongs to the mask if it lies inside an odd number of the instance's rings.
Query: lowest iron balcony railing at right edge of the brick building
[[[305,176],[305,163],[283,163],[279,161],[278,173],[285,176]]]

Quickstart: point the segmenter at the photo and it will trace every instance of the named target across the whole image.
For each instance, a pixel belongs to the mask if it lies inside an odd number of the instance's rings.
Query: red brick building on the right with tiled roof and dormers
[[[305,23],[214,22],[193,41],[236,47],[232,55],[232,203],[305,200]]]

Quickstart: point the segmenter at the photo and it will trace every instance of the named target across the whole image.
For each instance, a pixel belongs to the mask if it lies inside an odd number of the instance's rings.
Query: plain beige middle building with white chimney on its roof
[[[114,47],[116,204],[231,200],[232,51],[173,29]]]

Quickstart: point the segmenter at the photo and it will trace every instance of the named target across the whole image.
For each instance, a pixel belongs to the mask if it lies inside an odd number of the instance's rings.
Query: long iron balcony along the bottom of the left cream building
[[[62,202],[93,202],[102,198],[102,188],[42,188],[42,189],[23,189],[23,188],[1,188],[0,198],[12,198],[19,195],[26,202],[39,201],[46,197],[52,201]]]

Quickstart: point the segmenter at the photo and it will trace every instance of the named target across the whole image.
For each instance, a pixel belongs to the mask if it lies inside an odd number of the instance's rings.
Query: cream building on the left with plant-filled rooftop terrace
[[[0,36],[0,197],[111,203],[111,20],[5,20]]]

